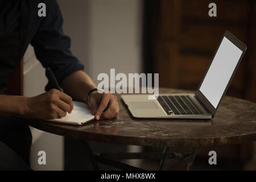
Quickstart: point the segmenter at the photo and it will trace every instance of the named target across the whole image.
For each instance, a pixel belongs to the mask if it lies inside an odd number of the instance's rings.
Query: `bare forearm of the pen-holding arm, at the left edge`
[[[0,115],[1,116],[25,116],[26,97],[0,95]]]

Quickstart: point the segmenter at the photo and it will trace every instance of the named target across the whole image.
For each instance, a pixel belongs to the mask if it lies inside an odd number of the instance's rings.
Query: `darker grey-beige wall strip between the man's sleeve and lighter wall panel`
[[[64,18],[64,34],[71,37],[71,51],[73,55],[85,65],[89,71],[89,15],[88,0],[58,0]]]

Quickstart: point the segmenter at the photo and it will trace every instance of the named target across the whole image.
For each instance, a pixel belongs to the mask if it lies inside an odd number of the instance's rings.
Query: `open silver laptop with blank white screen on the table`
[[[226,31],[195,94],[159,94],[154,100],[148,94],[123,94],[122,100],[136,118],[213,118],[246,48]]]

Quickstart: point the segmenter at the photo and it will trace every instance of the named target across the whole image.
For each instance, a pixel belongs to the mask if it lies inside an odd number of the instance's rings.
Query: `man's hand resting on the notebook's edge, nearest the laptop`
[[[97,120],[118,117],[119,106],[117,97],[111,93],[100,94],[97,91],[90,93],[88,105]]]

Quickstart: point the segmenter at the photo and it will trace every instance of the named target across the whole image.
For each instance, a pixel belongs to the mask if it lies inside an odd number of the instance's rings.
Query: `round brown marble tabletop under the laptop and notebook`
[[[160,89],[160,93],[192,93]],[[119,96],[118,96],[119,97]],[[199,147],[256,140],[256,104],[225,97],[213,119],[133,118],[119,97],[117,119],[92,121],[83,126],[46,121],[29,122],[36,129],[75,139],[138,146]]]

